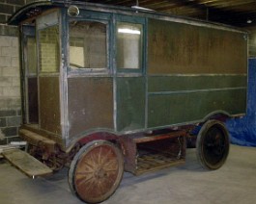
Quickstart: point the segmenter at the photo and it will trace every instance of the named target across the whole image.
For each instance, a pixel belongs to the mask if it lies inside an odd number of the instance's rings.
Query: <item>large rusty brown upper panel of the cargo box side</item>
[[[149,74],[245,74],[246,36],[150,18],[148,55]]]

